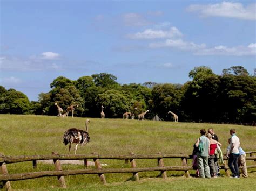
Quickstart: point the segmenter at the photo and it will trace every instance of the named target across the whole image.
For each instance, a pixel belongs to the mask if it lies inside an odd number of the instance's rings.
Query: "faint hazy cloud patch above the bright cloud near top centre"
[[[142,15],[137,13],[126,13],[123,16],[124,24],[128,26],[146,26],[152,24]]]

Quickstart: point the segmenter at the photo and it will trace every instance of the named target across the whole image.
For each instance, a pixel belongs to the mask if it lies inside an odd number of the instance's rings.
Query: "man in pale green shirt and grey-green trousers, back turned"
[[[197,139],[197,142],[195,144],[199,148],[199,152],[197,154],[199,177],[211,178],[210,168],[208,165],[210,141],[207,137],[205,137],[205,133],[206,133],[205,129],[200,130],[201,137]]]

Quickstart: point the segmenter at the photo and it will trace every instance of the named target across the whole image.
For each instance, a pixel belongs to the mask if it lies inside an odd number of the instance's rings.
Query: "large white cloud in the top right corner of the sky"
[[[256,20],[256,3],[248,5],[246,8],[241,3],[221,2],[216,4],[188,6],[188,11],[199,12],[202,17],[229,17],[245,20]]]

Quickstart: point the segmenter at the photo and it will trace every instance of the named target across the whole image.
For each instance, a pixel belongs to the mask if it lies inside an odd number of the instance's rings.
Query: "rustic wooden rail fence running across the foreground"
[[[254,160],[255,164],[247,166],[247,168],[256,168],[256,156],[253,154],[256,151],[246,152],[246,160]],[[250,156],[248,156],[250,155]],[[92,159],[95,162],[96,169],[78,169],[78,170],[62,170],[60,160],[84,160],[84,165],[87,167],[87,161]],[[126,163],[131,164],[131,168],[102,168],[100,164],[100,159],[115,159],[115,160],[125,160]],[[135,159],[157,159],[156,167],[143,167],[137,168]],[[181,159],[181,166],[164,166],[163,159]],[[6,190],[11,190],[10,181],[26,180],[26,179],[35,179],[45,176],[57,176],[59,185],[63,188],[66,188],[65,178],[66,175],[77,175],[77,174],[98,174],[100,181],[104,184],[106,179],[104,174],[106,173],[132,173],[133,179],[139,181],[139,172],[147,171],[160,171],[160,176],[166,178],[166,171],[184,171],[184,176],[190,177],[189,170],[193,169],[192,166],[187,165],[187,159],[192,159],[192,155],[187,154],[150,154],[150,155],[136,155],[133,153],[127,155],[99,155],[93,152],[91,155],[62,155],[57,152],[52,152],[51,155],[21,155],[21,156],[5,156],[0,154],[0,182],[3,182]],[[55,165],[55,171],[44,171],[44,172],[30,172],[30,173],[19,173],[19,174],[9,174],[7,169],[7,164],[15,162],[25,162],[32,161],[33,168],[37,168],[38,160],[53,160]],[[225,164],[220,166],[221,169],[225,170],[227,176],[228,159],[224,156]]]

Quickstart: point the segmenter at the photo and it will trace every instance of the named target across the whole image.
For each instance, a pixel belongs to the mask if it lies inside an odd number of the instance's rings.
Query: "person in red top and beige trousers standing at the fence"
[[[210,140],[210,152],[209,152],[209,167],[210,173],[213,178],[217,178],[218,173],[218,158],[215,151],[217,150],[217,146],[221,146],[221,143],[217,142],[217,140],[212,139],[211,133],[207,133],[206,137]]]

